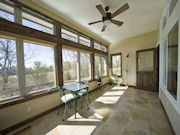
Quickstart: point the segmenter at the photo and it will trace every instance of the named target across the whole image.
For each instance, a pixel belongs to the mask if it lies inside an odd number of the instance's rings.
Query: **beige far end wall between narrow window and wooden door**
[[[110,53],[122,53],[122,84],[136,85],[136,51],[154,48],[157,45],[157,32],[152,31],[131,37],[110,45]],[[127,58],[126,55],[129,54]],[[128,73],[126,75],[126,67]]]

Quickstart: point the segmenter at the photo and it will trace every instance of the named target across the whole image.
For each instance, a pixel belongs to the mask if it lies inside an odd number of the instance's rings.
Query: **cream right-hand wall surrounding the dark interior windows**
[[[177,2],[171,16],[169,16],[168,13],[168,5],[169,5],[169,0],[167,1],[164,11],[163,11],[163,16],[167,16],[167,22],[164,30],[160,29],[160,49],[162,49],[162,43],[163,40],[166,39],[169,31],[171,28],[174,26],[174,24],[178,21],[180,21],[180,1]],[[162,17],[163,17],[162,16]],[[162,18],[161,18],[162,20]],[[180,52],[180,22],[179,24],[179,34],[178,34],[178,52]],[[168,117],[171,121],[171,124],[174,128],[174,131],[176,135],[180,135],[180,53],[176,54],[178,55],[178,86],[177,86],[177,99],[175,99],[167,90],[167,88],[163,85],[163,70],[162,66],[160,64],[160,89],[159,89],[159,97],[163,103],[163,106],[168,114]],[[160,63],[162,62],[162,55],[160,54]]]

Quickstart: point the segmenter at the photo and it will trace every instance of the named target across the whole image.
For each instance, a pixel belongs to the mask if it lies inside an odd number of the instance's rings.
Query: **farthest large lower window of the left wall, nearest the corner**
[[[107,61],[105,56],[95,55],[95,78],[107,75]]]

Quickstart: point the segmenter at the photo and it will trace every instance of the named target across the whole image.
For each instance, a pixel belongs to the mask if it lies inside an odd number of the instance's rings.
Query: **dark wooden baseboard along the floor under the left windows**
[[[104,84],[104,86],[105,86],[105,85],[108,85],[108,84],[109,84],[109,83],[106,83],[106,84]],[[92,93],[92,92],[94,92],[94,91],[96,91],[97,89],[99,89],[99,88],[96,88],[96,89],[94,89],[94,90],[89,91],[89,94]],[[84,95],[84,96],[85,96],[85,95]],[[80,97],[78,97],[78,98],[80,98]],[[71,102],[72,102],[72,101],[71,101]],[[42,117],[42,116],[44,116],[44,115],[46,115],[46,114],[48,114],[48,113],[50,113],[50,112],[53,112],[53,111],[55,111],[55,110],[57,110],[58,108],[63,107],[63,106],[64,106],[64,104],[59,104],[59,105],[57,105],[57,106],[55,106],[55,107],[53,107],[53,108],[51,108],[51,109],[49,109],[49,110],[46,110],[46,111],[44,111],[44,112],[41,112],[40,114],[37,114],[37,115],[35,115],[35,116],[33,116],[33,117],[29,118],[29,119],[26,119],[26,120],[24,120],[24,121],[22,121],[22,122],[19,122],[19,123],[17,123],[17,124],[14,124],[14,125],[6,128],[6,129],[3,129],[3,130],[0,131],[0,133],[3,134],[3,135],[4,135],[4,134],[7,134],[7,133],[10,133],[10,132],[12,132],[12,131],[14,131],[14,130],[22,127],[22,126],[25,126],[25,125],[31,123],[32,121],[34,121],[34,120],[36,120],[36,119],[39,119],[40,117]]]

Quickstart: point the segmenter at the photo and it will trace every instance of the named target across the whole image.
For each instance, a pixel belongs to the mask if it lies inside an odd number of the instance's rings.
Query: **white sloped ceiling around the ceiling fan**
[[[33,0],[46,5],[68,20],[80,24],[84,28],[100,35],[110,43],[158,29],[160,16],[166,0]],[[110,24],[105,32],[101,32],[103,23],[89,26],[89,22],[101,20],[102,15],[96,5],[108,5],[110,12],[116,11],[125,3],[129,9],[114,19],[123,21],[118,27]]]

